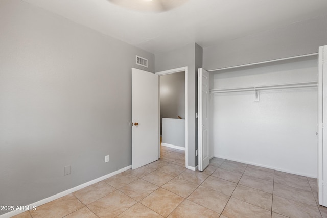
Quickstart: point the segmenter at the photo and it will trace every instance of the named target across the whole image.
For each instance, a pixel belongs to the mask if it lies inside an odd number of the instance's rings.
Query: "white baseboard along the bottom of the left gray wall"
[[[54,200],[56,200],[56,199],[58,199],[58,198],[61,198],[61,197],[66,196],[66,195],[68,195],[68,194],[70,194],[70,193],[73,193],[73,192],[78,191],[78,190],[80,190],[80,189],[82,189],[82,188],[85,188],[85,187],[87,187],[87,186],[89,186],[89,185],[95,184],[95,183],[100,182],[100,181],[102,181],[102,180],[108,179],[108,178],[110,178],[110,177],[112,177],[112,176],[114,176],[114,175],[116,175],[116,174],[119,174],[119,173],[122,173],[122,172],[124,172],[124,171],[127,171],[127,170],[130,169],[130,168],[132,168],[132,165],[130,165],[130,166],[126,166],[126,167],[124,167],[124,168],[122,168],[122,169],[119,169],[118,171],[112,172],[112,173],[110,173],[110,174],[104,175],[104,176],[99,177],[99,178],[97,178],[97,179],[94,179],[94,180],[91,180],[91,181],[89,181],[89,182],[83,183],[83,184],[78,185],[78,186],[76,186],[76,187],[73,187],[73,188],[71,188],[71,189],[68,189],[68,190],[62,191],[62,192],[60,192],[60,193],[57,193],[56,195],[53,195],[53,196],[50,196],[50,197],[48,197],[48,198],[42,199],[42,200],[40,200],[40,201],[34,202],[34,203],[30,204],[30,205],[27,205],[27,207],[29,207],[29,208],[33,208],[33,206],[38,207],[38,206],[41,206],[41,205],[43,205],[43,204],[49,203],[49,202],[54,201]],[[18,214],[23,213],[23,212],[25,212],[25,211],[26,211],[26,210],[14,210],[14,211],[11,211],[11,212],[8,212],[8,213],[5,213],[5,214],[3,214],[3,215],[0,215],[0,218],[10,218],[10,217],[12,217],[12,216],[18,215]]]

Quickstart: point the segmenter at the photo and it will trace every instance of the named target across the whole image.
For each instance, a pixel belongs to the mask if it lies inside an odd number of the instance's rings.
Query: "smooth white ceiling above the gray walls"
[[[193,42],[207,47],[327,14],[326,0],[188,0],[160,13],[108,0],[23,1],[152,53]]]

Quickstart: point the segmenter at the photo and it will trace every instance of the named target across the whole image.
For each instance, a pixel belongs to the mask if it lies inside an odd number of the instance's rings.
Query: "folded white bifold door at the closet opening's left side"
[[[198,69],[199,171],[209,165],[209,73]]]

